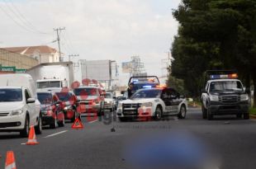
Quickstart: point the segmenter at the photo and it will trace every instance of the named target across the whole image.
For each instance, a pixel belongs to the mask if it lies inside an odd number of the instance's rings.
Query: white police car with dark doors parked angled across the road
[[[145,88],[135,92],[130,99],[118,104],[116,115],[121,121],[127,118],[153,117],[160,120],[166,115],[185,119],[187,101],[173,88]]]

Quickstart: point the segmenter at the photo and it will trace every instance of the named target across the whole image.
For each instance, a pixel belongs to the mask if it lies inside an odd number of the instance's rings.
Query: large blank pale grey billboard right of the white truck
[[[98,82],[111,80],[111,60],[81,61],[82,79],[94,79]]]

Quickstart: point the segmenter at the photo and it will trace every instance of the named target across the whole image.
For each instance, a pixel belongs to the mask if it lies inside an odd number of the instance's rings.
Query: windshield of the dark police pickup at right
[[[243,91],[243,86],[239,81],[219,81],[211,82],[210,92],[224,92],[224,91]]]

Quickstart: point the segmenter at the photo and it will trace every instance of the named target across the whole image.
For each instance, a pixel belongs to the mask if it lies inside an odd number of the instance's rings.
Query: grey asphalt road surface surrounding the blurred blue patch
[[[18,134],[0,133],[0,169],[4,168],[8,150],[15,153],[17,169],[134,168],[124,153],[129,143],[136,143],[144,134],[162,132],[189,134],[202,140],[219,155],[220,168],[256,168],[255,120],[238,120],[232,116],[202,120],[198,109],[189,110],[186,120],[175,117],[161,121],[86,120],[83,117],[84,129],[71,129],[70,123],[63,128],[46,128],[43,134],[36,135],[40,144],[35,146],[22,144],[27,138]],[[115,132],[111,132],[113,128]]]

